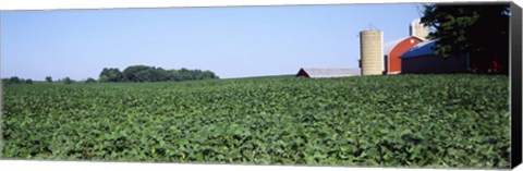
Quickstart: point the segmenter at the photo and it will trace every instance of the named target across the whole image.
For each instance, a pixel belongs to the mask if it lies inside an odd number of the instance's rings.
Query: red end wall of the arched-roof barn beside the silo
[[[409,51],[412,47],[416,46],[417,44],[422,42],[421,39],[409,37],[392,48],[388,56],[388,73],[399,73],[401,72],[401,56]]]

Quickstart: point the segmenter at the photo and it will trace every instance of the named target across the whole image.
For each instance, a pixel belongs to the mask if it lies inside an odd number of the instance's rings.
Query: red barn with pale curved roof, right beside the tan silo
[[[384,45],[385,68],[387,74],[401,73],[401,56],[423,40],[409,36]]]

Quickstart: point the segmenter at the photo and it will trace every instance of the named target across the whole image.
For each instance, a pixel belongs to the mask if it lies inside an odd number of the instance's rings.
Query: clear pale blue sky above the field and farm
[[[357,68],[358,33],[409,36],[417,3],[2,11],[1,77],[98,78],[145,64],[222,78]]]

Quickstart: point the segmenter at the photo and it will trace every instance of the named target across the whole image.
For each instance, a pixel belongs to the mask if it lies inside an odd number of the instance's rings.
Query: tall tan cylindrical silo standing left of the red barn
[[[381,30],[360,32],[360,56],[362,75],[384,73],[384,33]]]

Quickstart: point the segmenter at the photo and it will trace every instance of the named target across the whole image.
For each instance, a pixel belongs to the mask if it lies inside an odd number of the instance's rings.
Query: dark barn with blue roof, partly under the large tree
[[[449,57],[436,56],[431,49],[436,40],[421,42],[401,56],[402,73],[457,73],[470,71],[469,54]]]

